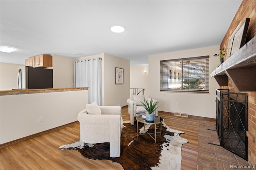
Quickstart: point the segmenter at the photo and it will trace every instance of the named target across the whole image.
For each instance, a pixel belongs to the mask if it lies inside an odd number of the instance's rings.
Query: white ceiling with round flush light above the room
[[[109,53],[148,64],[148,55],[220,45],[242,0],[1,0],[0,62],[40,54]],[[126,30],[113,33],[111,26]],[[74,55],[73,53],[81,53]]]

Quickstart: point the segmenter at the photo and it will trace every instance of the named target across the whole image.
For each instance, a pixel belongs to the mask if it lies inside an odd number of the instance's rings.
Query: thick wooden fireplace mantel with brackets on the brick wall
[[[220,86],[228,86],[228,78],[239,91],[256,91],[256,37],[241,47],[211,74]]]

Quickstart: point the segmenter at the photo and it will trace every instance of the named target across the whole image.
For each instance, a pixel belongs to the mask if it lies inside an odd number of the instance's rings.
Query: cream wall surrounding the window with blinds
[[[160,92],[160,60],[209,55],[209,73],[211,73],[220,63],[220,59],[213,56],[219,52],[219,49],[219,46],[212,46],[149,56],[149,97],[160,101],[159,111],[215,118],[215,89],[218,89],[219,85],[214,77],[209,78],[209,94]]]

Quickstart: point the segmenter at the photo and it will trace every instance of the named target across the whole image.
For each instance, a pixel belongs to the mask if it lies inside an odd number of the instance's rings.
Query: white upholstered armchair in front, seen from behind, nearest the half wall
[[[81,146],[84,146],[84,143],[110,142],[110,157],[120,157],[122,108],[120,106],[98,107],[101,114],[88,114],[88,107],[78,113]]]

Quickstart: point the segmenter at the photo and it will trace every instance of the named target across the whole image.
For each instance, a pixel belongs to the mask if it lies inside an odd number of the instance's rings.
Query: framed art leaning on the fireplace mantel
[[[250,18],[246,18],[244,23],[239,27],[239,29],[234,34],[234,40],[232,43],[230,56],[232,56],[234,53],[236,53],[236,51],[238,51],[238,49],[244,46],[246,41],[249,22],[250,22]]]

